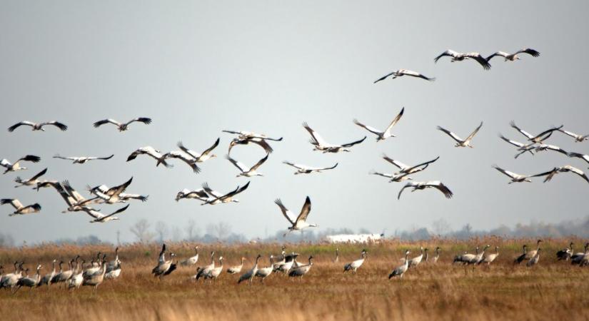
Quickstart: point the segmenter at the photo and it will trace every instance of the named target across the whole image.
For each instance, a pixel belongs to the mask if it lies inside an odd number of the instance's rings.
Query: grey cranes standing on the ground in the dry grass
[[[277,200],[278,203],[278,200]],[[536,248],[528,250],[528,245],[523,245],[522,253],[513,259],[513,265],[522,265],[525,263],[527,267],[533,267],[538,265],[540,261],[540,253],[542,248],[540,244],[543,240],[538,240]],[[589,265],[589,243],[585,243],[584,251],[575,253],[573,250],[573,243],[571,242],[568,248],[558,250],[555,256],[558,260],[568,261],[570,260],[571,265],[578,265],[584,267]],[[477,265],[486,265],[490,268],[491,263],[499,256],[499,247],[495,246],[494,251],[488,251],[490,245],[485,245],[482,249],[477,246],[475,253],[460,253],[455,255],[450,264],[452,265],[463,265],[465,267],[472,266],[473,270]],[[210,263],[206,265],[198,265],[200,255],[198,253],[199,247],[194,248],[194,255],[184,259],[176,258],[175,253],[168,252],[168,247],[164,243],[161,246],[161,251],[158,255],[156,266],[151,269],[153,277],[157,277],[158,280],[163,280],[163,277],[171,275],[171,273],[177,270],[179,267],[193,268],[196,267],[196,274],[190,277],[194,282],[214,282],[220,277],[223,272],[228,275],[238,275],[235,279],[238,284],[247,282],[250,285],[253,284],[253,280],[260,280],[263,284],[266,278],[271,275],[283,275],[292,278],[298,278],[302,280],[305,275],[313,267],[313,255],[309,255],[306,262],[299,263],[297,258],[300,256],[299,253],[286,252],[286,246],[282,246],[281,253],[278,255],[269,255],[268,265],[263,265],[260,260],[263,258],[262,255],[258,254],[253,259],[253,265],[251,268],[244,268],[244,262],[248,260],[246,257],[240,258],[239,265],[233,265],[226,267],[223,265],[223,256],[215,258],[216,252],[211,251]],[[345,263],[343,265],[343,273],[351,272],[356,275],[356,272],[368,258],[368,250],[363,249],[359,253],[360,257],[357,260]],[[438,264],[440,263],[441,248],[436,247],[434,254],[429,255],[428,248],[419,248],[419,255],[410,258],[411,251],[406,249],[404,256],[401,258],[401,265],[393,267],[393,270],[388,274],[388,279],[398,277],[402,279],[403,275],[408,270],[416,269],[419,265],[423,264]],[[0,289],[4,288],[10,290],[13,294],[16,293],[21,287],[29,287],[29,293],[36,287],[46,285],[51,287],[53,284],[61,283],[65,290],[76,290],[81,286],[93,287],[95,292],[99,285],[105,280],[114,280],[121,277],[121,260],[119,259],[119,248],[117,247],[114,251],[114,260],[106,260],[107,255],[105,253],[96,253],[96,257],[89,258],[89,261],[81,258],[80,255],[76,255],[71,260],[53,260],[51,263],[51,271],[45,275],[41,275],[41,269],[43,265],[36,265],[36,273],[31,276],[29,275],[29,268],[24,267],[24,261],[15,261],[14,271],[6,272],[4,274],[4,266],[0,265]],[[87,264],[86,264],[87,263]],[[67,264],[67,269],[64,270],[64,264]],[[339,265],[339,248],[336,248],[336,256],[333,259],[333,264]],[[59,268],[58,268],[59,267]],[[54,286],[55,287],[55,286]]]

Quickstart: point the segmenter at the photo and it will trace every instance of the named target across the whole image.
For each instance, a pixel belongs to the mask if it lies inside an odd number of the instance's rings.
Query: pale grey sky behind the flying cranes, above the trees
[[[8,218],[0,207],[0,233],[16,241],[52,240],[95,234],[114,240],[140,218],[183,225],[193,219],[204,228],[226,221],[249,237],[286,228],[273,204],[282,198],[298,212],[306,195],[313,208],[309,221],[322,228],[431,226],[445,218],[453,228],[513,225],[533,219],[556,222],[588,213],[587,183],[559,175],[550,183],[507,185],[493,170],[497,163],[517,173],[540,173],[555,165],[586,163],[558,153],[513,159],[514,148],[500,141],[503,133],[523,141],[509,127],[536,133],[565,124],[589,133],[587,1],[2,1],[0,10],[0,158],[14,161],[25,154],[41,156],[29,170],[0,177],[2,198],[39,202],[38,215]],[[450,63],[433,58],[445,49],[515,51],[529,46],[539,58],[515,63],[491,61],[483,71],[473,61]],[[579,54],[576,54],[579,53]],[[408,68],[436,76],[372,82],[389,71]],[[401,107],[405,116],[394,128],[397,138],[376,143],[374,136],[352,153],[323,155],[311,151],[307,121],[333,143],[369,133],[353,118],[384,128]],[[114,127],[93,128],[102,118],[153,118],[150,126],[134,124],[119,133]],[[49,128],[34,133],[6,128],[21,120],[59,120],[62,133]],[[466,136],[480,121],[475,148],[454,148],[436,126]],[[169,170],[129,153],[151,145],[162,151],[186,146],[202,150],[221,137],[216,154],[224,156],[231,139],[223,129],[283,136],[275,153],[239,195],[239,204],[201,206],[176,203],[183,188],[208,182],[226,191],[246,178],[219,157],[194,175],[186,164]],[[573,143],[558,133],[550,143],[589,153],[589,142]],[[232,156],[248,165],[263,157],[260,148],[238,146]],[[62,156],[107,156],[110,161],[71,165]],[[368,175],[371,169],[391,173],[380,156],[404,163],[440,160],[416,180],[442,180],[455,193],[446,200],[427,190],[396,195],[401,183]],[[308,165],[340,166],[320,175],[293,175],[284,160]],[[132,203],[121,220],[90,224],[87,215],[61,214],[65,203],[54,190],[39,193],[13,188],[16,175],[30,177],[49,168],[46,178],[86,184],[116,185],[133,176],[131,193],[149,195]],[[102,206],[103,212],[117,208]]]

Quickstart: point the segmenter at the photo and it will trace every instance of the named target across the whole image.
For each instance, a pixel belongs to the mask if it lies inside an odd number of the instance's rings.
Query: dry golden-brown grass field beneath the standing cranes
[[[574,240],[579,250],[583,240]],[[121,277],[106,280],[96,294],[91,287],[68,292],[60,285],[39,287],[29,295],[0,290],[1,320],[588,320],[589,269],[555,260],[555,252],[569,240],[545,240],[540,264],[514,266],[513,258],[523,243],[535,240],[476,239],[468,242],[440,240],[424,243],[366,245],[369,256],[358,274],[343,274],[343,264],[355,260],[363,245],[338,245],[340,262],[333,263],[335,245],[287,245],[287,252],[309,254],[315,265],[303,280],[271,275],[265,284],[238,285],[236,275],[223,273],[216,282],[194,282],[195,267],[178,267],[158,280],[151,276],[159,245],[127,245],[121,248]],[[453,256],[475,245],[500,246],[498,260],[489,267],[452,265]],[[403,250],[413,254],[419,245],[443,249],[437,264],[422,263],[409,270],[402,281],[388,280],[400,265]],[[178,258],[193,254],[193,244],[169,244]],[[242,255],[251,260],[280,252],[275,245],[201,245],[198,265],[208,263],[215,250],[236,265]],[[34,248],[0,249],[0,263],[25,260],[29,268],[41,263],[51,270],[54,258],[66,260],[76,254],[90,258],[96,252],[113,253],[107,246],[42,245]],[[111,258],[112,259],[111,254]],[[108,258],[107,258],[108,260]],[[244,268],[244,270],[245,270]],[[10,271],[9,271],[10,272]],[[31,273],[32,274],[32,273]],[[63,285],[61,285],[63,286]]]

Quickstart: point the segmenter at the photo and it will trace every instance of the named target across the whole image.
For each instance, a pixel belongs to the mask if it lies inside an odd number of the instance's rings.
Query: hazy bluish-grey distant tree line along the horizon
[[[166,223],[158,221],[153,225],[146,219],[138,220],[129,231],[134,236],[133,242],[139,243],[162,243],[162,242],[178,242],[191,241],[198,243],[246,243],[251,241],[245,235],[240,233],[233,233],[231,225],[226,222],[216,224],[208,224],[203,230],[196,225],[193,220],[188,220],[188,223],[183,228],[176,226],[169,227]],[[318,242],[324,240],[326,235],[336,234],[368,234],[368,233],[383,233],[383,231],[369,231],[361,228],[357,231],[349,228],[325,230],[305,230],[303,233],[295,231],[288,233],[286,237],[283,234],[287,230],[278,230],[273,235],[268,235],[265,238],[255,238],[253,241],[267,243],[267,242]],[[119,235],[117,232],[117,240],[103,241],[96,235],[80,236],[79,238],[60,238],[54,240],[56,244],[75,244],[75,245],[90,245],[100,243],[116,243],[119,244]],[[589,238],[589,216],[575,220],[565,220],[560,223],[542,223],[532,221],[529,224],[517,224],[513,228],[506,225],[500,225],[498,228],[491,230],[474,230],[470,224],[463,225],[459,230],[450,228],[450,224],[440,218],[433,221],[431,227],[415,227],[408,230],[395,230],[393,233],[385,235],[386,238],[399,238],[401,240],[429,240],[431,238],[455,238],[458,240],[466,240],[468,238],[497,235],[504,238],[532,238],[532,237],[552,237],[562,238],[570,235],[575,235],[580,238]],[[0,248],[14,246],[14,238],[8,233],[0,233]]]

